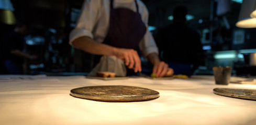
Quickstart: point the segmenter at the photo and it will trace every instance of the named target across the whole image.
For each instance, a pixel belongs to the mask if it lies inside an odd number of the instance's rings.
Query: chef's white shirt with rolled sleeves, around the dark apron
[[[146,6],[137,0],[141,19],[148,27],[148,10]],[[81,15],[77,20],[76,27],[70,33],[70,44],[81,37],[91,37],[96,42],[102,43],[107,35],[110,16],[110,0],[85,0],[81,9]],[[114,0],[114,8],[125,7],[136,11],[134,0]],[[131,36],[132,37],[132,36]],[[121,41],[120,41],[121,42]],[[139,43],[142,56],[146,57],[150,53],[158,53],[157,45],[148,28]]]

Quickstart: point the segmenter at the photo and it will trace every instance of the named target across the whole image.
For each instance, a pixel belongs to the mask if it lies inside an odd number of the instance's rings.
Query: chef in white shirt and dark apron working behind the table
[[[161,61],[148,30],[148,10],[140,0],[85,0],[70,44],[87,53],[102,55],[89,75],[110,71],[116,76],[141,72],[139,53],[153,65],[156,77],[173,74]]]

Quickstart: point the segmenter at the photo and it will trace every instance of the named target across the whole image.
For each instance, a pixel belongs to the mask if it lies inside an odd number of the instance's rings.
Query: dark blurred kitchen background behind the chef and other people
[[[36,61],[26,60],[26,74],[65,74],[67,72],[77,72],[86,74],[92,69],[92,55],[73,48],[68,44],[69,33],[74,28],[76,19],[79,17],[83,0],[10,0],[15,9],[16,21],[26,22],[29,26],[29,37],[27,39],[39,37],[37,43],[26,45],[28,53],[37,54]],[[239,52],[241,49],[254,49],[255,29],[241,29],[235,26],[238,21],[240,3],[230,1],[230,10],[222,15],[217,15],[218,3],[214,0],[142,0],[148,7],[149,26],[156,27],[152,31],[155,35],[159,28],[171,24],[168,16],[172,15],[172,10],[177,5],[185,5],[188,14],[194,19],[187,23],[201,34],[202,44],[211,46],[205,50],[205,66],[203,72],[199,74],[211,73],[211,67],[219,65],[214,59],[214,54],[221,51]],[[226,8],[221,6],[220,8]],[[3,10],[1,10],[3,11]],[[228,22],[225,23],[225,19]],[[199,21],[200,20],[200,21]],[[13,30],[14,24],[1,22],[1,43],[4,36]],[[243,30],[250,35],[242,45],[233,45],[233,32]],[[207,31],[207,32],[205,32]],[[247,35],[248,35],[247,34]],[[34,40],[34,39],[31,39]],[[225,64],[236,67],[242,60],[224,60]],[[147,64],[147,62],[145,62]],[[221,62],[222,63],[222,62]],[[245,64],[244,64],[245,65]],[[3,68],[1,73],[5,74]],[[67,73],[69,74],[69,73]]]

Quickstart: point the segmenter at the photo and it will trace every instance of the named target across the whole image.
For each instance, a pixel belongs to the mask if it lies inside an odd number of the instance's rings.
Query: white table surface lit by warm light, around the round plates
[[[206,78],[206,79],[205,79]],[[97,80],[85,76],[0,76],[0,124],[256,124],[256,101],[216,95],[212,77]],[[208,79],[210,78],[210,79]],[[151,101],[109,103],[70,96],[92,85],[130,85],[160,93]]]

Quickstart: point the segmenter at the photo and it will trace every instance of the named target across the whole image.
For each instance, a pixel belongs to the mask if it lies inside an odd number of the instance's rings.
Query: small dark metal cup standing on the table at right
[[[232,67],[213,67],[216,84],[228,85],[231,77]]]

